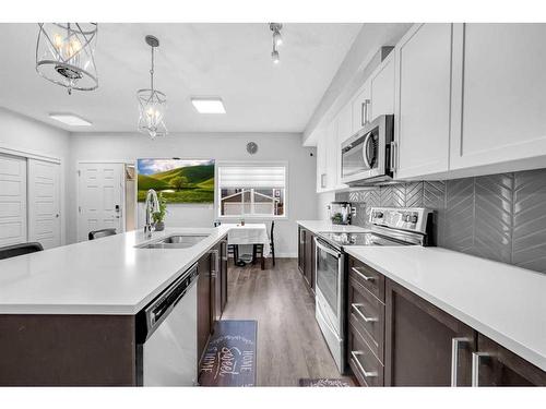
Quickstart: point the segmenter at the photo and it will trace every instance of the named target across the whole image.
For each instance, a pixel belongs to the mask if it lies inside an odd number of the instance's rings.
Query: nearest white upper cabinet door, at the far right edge
[[[450,169],[500,172],[541,165],[545,38],[545,24],[454,25]]]

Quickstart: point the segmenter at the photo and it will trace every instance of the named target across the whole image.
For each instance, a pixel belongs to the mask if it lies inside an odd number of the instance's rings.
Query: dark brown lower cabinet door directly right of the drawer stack
[[[470,386],[473,328],[385,282],[385,386]]]

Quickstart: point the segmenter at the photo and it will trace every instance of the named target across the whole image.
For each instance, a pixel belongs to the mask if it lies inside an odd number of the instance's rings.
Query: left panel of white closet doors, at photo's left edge
[[[26,241],[26,159],[0,155],[0,246]]]

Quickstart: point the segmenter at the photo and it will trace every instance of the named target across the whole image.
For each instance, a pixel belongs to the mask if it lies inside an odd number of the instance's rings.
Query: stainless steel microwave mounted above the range
[[[394,116],[377,117],[345,141],[341,161],[342,182],[348,185],[391,180],[394,170]]]

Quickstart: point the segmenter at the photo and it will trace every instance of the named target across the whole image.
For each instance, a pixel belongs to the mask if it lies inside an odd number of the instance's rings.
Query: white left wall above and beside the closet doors
[[[61,243],[67,241],[69,132],[0,107],[0,147],[61,161]],[[24,156],[22,154],[22,156]]]

